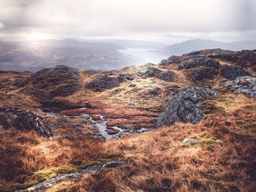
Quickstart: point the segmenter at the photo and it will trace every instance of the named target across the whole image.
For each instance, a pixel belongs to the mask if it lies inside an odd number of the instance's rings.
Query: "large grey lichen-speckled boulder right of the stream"
[[[203,116],[203,101],[216,96],[217,91],[208,88],[189,86],[176,93],[173,99],[165,104],[164,112],[159,115],[157,126],[172,125],[176,121],[198,123]]]

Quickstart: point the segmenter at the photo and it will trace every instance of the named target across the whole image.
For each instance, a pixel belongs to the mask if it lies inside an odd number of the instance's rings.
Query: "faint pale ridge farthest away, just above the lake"
[[[105,42],[113,43],[125,48],[136,48],[136,49],[158,49],[160,47],[165,47],[165,43],[161,42],[148,42],[139,40],[129,40],[129,39],[79,39],[85,42]]]

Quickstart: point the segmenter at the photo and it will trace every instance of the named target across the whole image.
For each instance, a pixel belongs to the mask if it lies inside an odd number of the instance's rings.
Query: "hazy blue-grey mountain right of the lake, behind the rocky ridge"
[[[170,45],[158,50],[152,50],[161,55],[182,55],[194,50],[221,48],[224,50],[253,50],[256,49],[256,41],[241,42],[217,42],[213,40],[193,39],[186,42]]]

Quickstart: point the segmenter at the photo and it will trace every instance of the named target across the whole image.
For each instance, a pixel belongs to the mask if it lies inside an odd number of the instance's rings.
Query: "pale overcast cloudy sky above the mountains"
[[[255,0],[0,0],[0,39],[256,39]]]

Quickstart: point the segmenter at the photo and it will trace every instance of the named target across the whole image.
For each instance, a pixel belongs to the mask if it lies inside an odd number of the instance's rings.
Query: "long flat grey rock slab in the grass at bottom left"
[[[46,191],[49,188],[52,188],[54,185],[65,182],[65,181],[73,181],[73,180],[80,180],[85,174],[96,172],[97,170],[105,167],[116,167],[120,166],[122,164],[125,164],[125,161],[110,161],[107,163],[102,164],[96,164],[94,166],[89,166],[86,169],[80,169],[76,172],[72,172],[69,174],[59,174],[56,177],[49,178],[48,180],[43,181],[42,183],[38,183],[37,185],[33,185],[30,188],[27,188],[26,190],[18,190],[16,192],[22,192],[22,191]]]

